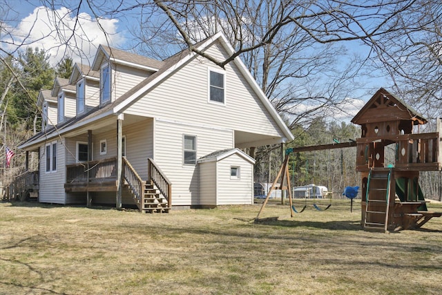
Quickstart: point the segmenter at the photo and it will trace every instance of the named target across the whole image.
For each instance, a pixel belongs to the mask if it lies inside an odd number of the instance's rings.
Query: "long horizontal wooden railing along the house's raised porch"
[[[116,167],[117,158],[69,164],[66,165],[66,182],[93,181],[95,178],[117,178]]]

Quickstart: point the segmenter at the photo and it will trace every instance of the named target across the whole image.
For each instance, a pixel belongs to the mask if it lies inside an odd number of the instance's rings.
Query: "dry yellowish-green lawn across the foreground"
[[[300,202],[300,201],[296,201]],[[301,206],[301,204],[298,204]],[[441,204],[429,205],[442,211]],[[360,203],[142,214],[0,203],[0,294],[440,294],[442,218],[361,230]],[[278,217],[278,218],[276,218]]]

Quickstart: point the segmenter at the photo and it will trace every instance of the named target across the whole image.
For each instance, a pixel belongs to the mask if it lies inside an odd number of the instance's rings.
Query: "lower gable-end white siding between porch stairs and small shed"
[[[156,120],[154,160],[173,184],[173,205],[198,204],[200,197],[198,165],[182,164],[183,150],[180,146],[183,134],[195,135],[198,138],[197,159],[213,151],[233,147],[232,131]]]

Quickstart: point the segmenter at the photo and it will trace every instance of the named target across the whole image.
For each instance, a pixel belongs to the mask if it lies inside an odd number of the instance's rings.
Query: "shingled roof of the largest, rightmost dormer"
[[[111,48],[105,45],[100,45],[97,50],[97,55],[92,64],[92,70],[99,70],[103,59],[110,59],[115,64],[126,64],[135,68],[143,68],[144,70],[150,70],[156,72],[163,66],[163,61],[157,59],[151,59],[143,55],[137,55],[135,53],[128,53],[124,50],[117,48]]]

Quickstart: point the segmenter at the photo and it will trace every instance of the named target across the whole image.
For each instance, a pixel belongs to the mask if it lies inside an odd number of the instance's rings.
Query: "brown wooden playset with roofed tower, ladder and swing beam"
[[[434,133],[419,133],[427,123],[421,115],[385,89],[379,89],[352,119],[361,126],[356,142],[303,146],[287,149],[278,176],[263,202],[257,219],[273,189],[288,189],[291,204],[289,153],[342,149],[356,146],[356,171],[361,173],[361,226],[367,231],[393,231],[423,226],[442,212],[427,211],[419,187],[419,171],[442,169],[442,124]],[[414,133],[417,131],[416,133]],[[390,162],[386,155],[389,154]],[[281,179],[280,179],[281,178]],[[287,182],[287,187],[284,185]],[[276,187],[280,182],[281,187]],[[291,208],[293,208],[291,206]],[[305,208],[304,208],[305,209]],[[291,209],[291,216],[294,210]],[[301,210],[303,211],[303,209]]]

